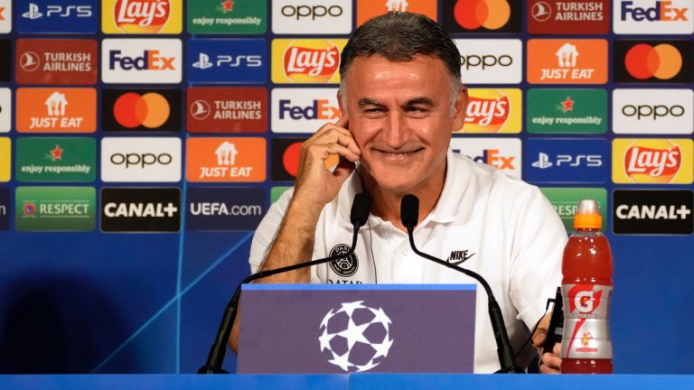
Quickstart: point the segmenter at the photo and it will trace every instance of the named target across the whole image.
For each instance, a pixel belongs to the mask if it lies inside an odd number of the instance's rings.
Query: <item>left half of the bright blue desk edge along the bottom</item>
[[[0,376],[3,390],[347,389],[347,375],[23,375]]]

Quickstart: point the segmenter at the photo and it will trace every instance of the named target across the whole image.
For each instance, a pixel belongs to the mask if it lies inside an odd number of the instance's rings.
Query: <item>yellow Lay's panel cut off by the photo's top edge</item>
[[[181,33],[183,0],[103,0],[101,23],[104,33]]]

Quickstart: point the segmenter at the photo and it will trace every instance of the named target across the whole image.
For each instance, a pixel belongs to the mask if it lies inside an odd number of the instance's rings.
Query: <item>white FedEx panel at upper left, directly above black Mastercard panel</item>
[[[105,83],[181,82],[182,44],[178,39],[105,39],[101,78]]]

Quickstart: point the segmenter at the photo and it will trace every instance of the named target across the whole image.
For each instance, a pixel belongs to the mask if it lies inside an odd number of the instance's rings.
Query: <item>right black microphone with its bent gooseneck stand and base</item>
[[[416,196],[412,194],[405,195],[400,201],[400,221],[405,228],[408,229],[409,236],[409,246],[412,246],[412,250],[417,254],[428,260],[431,260],[440,265],[445,265],[448,268],[454,269],[455,271],[466,274],[480,284],[482,284],[484,291],[487,292],[487,297],[489,299],[489,319],[492,320],[492,330],[494,331],[494,339],[496,339],[496,353],[499,356],[499,364],[501,369],[497,373],[517,373],[522,374],[524,371],[521,367],[516,365],[516,359],[513,355],[513,348],[511,348],[511,342],[509,341],[509,335],[506,333],[506,325],[503,322],[502,309],[499,307],[499,303],[494,299],[494,294],[492,293],[492,288],[489,287],[489,283],[484,280],[482,276],[474,273],[473,271],[466,270],[462,267],[449,264],[441,259],[438,259],[432,255],[427,255],[426,253],[420,252],[415,246],[414,231],[415,226],[417,226],[417,221],[419,219],[419,200]]]

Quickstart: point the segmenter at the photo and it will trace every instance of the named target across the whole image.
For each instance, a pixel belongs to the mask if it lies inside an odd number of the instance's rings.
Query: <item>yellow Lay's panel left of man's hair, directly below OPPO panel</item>
[[[272,41],[272,82],[337,84],[340,53],[346,39],[276,39]]]

